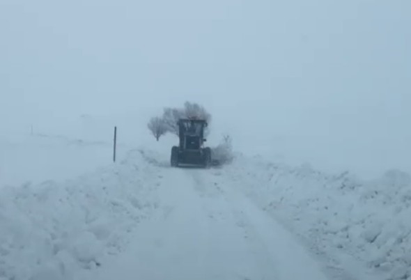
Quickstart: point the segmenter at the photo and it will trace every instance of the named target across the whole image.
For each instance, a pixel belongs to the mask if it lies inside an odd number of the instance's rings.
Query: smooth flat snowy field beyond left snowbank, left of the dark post
[[[112,161],[111,143],[49,135],[0,137],[0,187],[67,180]]]

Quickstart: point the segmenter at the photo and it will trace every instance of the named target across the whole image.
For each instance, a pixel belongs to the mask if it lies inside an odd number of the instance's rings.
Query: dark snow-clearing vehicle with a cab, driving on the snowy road
[[[211,164],[211,149],[204,147],[206,120],[180,118],[178,120],[179,145],[171,148],[171,166],[208,167]]]

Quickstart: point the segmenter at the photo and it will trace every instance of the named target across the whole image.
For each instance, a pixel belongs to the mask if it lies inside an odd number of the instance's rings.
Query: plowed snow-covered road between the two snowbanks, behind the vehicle
[[[82,279],[327,279],[290,233],[219,171],[159,169],[160,208]]]

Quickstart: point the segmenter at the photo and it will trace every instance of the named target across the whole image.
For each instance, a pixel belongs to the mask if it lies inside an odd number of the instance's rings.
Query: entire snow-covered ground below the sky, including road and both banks
[[[0,279],[410,278],[407,173],[364,181],[247,155],[171,169],[168,143],[124,145],[116,164],[111,148],[8,140]]]

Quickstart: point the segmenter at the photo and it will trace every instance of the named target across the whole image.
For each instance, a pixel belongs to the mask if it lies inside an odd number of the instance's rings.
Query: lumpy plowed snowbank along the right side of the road
[[[358,279],[411,279],[411,177],[397,170],[362,181],[309,164],[291,167],[237,157],[226,173],[329,265]]]

